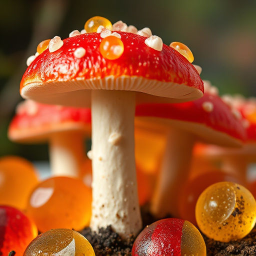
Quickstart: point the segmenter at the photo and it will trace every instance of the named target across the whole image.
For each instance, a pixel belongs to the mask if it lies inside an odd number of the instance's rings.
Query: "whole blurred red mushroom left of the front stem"
[[[27,99],[16,107],[8,127],[10,140],[49,143],[51,175],[81,176],[84,137],[91,134],[90,108],[37,103]]]

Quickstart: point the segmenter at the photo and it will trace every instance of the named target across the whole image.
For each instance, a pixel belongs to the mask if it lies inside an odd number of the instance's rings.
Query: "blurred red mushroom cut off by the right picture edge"
[[[256,101],[254,98],[246,99],[241,95],[223,95],[222,98],[242,116],[246,140],[240,148],[204,145],[203,150],[197,153],[211,162],[219,162],[225,171],[250,182],[248,165],[256,161]]]

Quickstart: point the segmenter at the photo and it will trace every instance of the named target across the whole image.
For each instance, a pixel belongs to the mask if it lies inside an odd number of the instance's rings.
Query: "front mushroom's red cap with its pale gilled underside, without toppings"
[[[144,36],[118,33],[124,51],[113,60],[101,55],[102,38],[95,32],[66,38],[54,52],[44,50],[23,74],[21,96],[43,103],[89,106],[86,90],[91,89],[144,92],[137,95],[140,102],[163,102],[164,97],[165,102],[171,102],[169,98],[180,102],[203,95],[198,72],[179,52],[165,44],[158,51],[145,44]],[[79,47],[85,49],[82,57],[74,55]]]

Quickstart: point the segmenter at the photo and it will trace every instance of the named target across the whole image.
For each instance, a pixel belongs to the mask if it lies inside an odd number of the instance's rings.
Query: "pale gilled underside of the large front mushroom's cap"
[[[126,75],[118,77],[111,75],[102,79],[49,81],[48,83],[34,81],[24,86],[20,94],[23,98],[30,98],[47,104],[90,107],[91,100],[88,90],[98,89],[144,92],[136,93],[136,103],[173,103],[193,100],[203,95],[199,89],[185,84],[161,82],[141,76]]]

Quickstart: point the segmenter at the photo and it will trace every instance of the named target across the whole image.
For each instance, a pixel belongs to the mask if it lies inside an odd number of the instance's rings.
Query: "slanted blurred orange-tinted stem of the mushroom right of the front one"
[[[178,194],[189,173],[194,145],[194,137],[179,128],[170,128],[166,139],[166,149],[150,209],[160,218],[167,214],[178,216]]]

